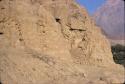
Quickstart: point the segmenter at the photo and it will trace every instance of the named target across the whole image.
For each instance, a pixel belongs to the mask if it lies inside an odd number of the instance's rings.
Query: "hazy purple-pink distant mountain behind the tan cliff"
[[[125,39],[123,0],[107,0],[94,14],[94,19],[109,39]]]

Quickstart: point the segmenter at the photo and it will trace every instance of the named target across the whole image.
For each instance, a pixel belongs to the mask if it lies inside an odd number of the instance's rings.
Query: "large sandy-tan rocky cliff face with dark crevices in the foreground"
[[[0,46],[3,84],[124,81],[108,41],[73,0],[0,0]]]

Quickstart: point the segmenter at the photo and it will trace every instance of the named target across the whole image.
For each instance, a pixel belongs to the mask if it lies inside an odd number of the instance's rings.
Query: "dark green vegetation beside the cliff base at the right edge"
[[[117,44],[111,47],[113,59],[117,64],[125,66],[125,46]]]

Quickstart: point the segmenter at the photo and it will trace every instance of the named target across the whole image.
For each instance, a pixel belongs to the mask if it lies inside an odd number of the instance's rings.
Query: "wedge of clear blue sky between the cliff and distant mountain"
[[[90,14],[93,14],[106,0],[76,0],[79,4],[87,8]]]

